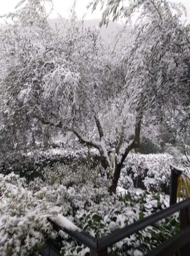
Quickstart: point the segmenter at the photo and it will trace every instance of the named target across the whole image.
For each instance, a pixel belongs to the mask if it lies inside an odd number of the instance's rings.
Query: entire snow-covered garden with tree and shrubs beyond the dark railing
[[[101,5],[100,26],[125,20],[108,43],[99,29],[83,27],[76,1],[56,28],[48,22],[51,0],[22,0],[1,17],[2,256],[39,255],[47,243],[60,255],[88,256],[48,219],[62,216],[101,238],[169,207],[170,165],[190,175],[185,9],[168,0],[124,2],[88,6]],[[146,255],[179,230],[177,212],[108,254]]]

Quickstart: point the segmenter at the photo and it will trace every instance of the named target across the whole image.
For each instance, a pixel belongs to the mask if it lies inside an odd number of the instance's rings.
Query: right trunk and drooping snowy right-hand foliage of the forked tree
[[[91,3],[94,10],[104,0]],[[134,40],[126,50],[126,85],[123,98],[128,96],[128,104],[137,113],[135,127],[136,140],[128,145],[118,161],[122,163],[133,143],[138,144],[142,118],[147,122],[162,122],[175,119],[179,124],[181,115],[189,115],[189,69],[190,43],[189,26],[181,22],[185,9],[169,1],[137,0],[108,1],[102,15],[102,24],[125,17],[134,21],[134,13],[139,15],[134,24]],[[119,177],[115,172],[115,184]]]

